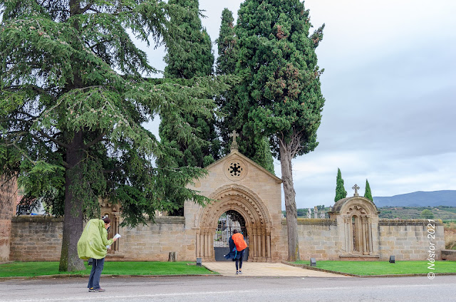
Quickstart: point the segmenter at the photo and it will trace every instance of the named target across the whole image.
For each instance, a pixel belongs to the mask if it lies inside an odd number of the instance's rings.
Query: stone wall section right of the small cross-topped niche
[[[396,260],[426,260],[430,249],[435,250],[435,259],[440,259],[440,251],[445,249],[445,233],[440,222],[380,219],[378,233],[380,260],[388,260],[390,255]]]

